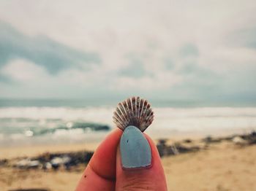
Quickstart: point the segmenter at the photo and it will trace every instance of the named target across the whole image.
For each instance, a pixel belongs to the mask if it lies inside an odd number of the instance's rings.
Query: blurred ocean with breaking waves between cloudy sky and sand
[[[255,106],[152,104],[153,139],[249,133],[256,130]],[[86,143],[102,140],[113,128],[113,103],[65,100],[1,100],[0,147]]]

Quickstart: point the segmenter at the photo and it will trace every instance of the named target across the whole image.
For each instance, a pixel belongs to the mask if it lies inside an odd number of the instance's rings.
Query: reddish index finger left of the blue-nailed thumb
[[[76,190],[115,190],[116,149],[122,130],[116,128],[94,152]]]

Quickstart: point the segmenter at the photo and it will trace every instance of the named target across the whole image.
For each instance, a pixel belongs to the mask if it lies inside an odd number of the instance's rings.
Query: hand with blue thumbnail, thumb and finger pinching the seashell
[[[125,138],[130,138],[132,143],[130,143],[129,146],[123,146],[122,141],[124,141],[124,135],[122,136],[122,134],[123,131],[120,129],[113,130],[113,132],[102,141],[94,152],[93,157],[91,157],[86,170],[83,172],[83,176],[76,188],[77,191],[167,190],[165,174],[154,142],[146,133],[138,133],[137,130],[132,129],[125,136]],[[123,140],[120,141],[121,136]],[[139,139],[136,139],[136,137],[139,137]],[[151,149],[151,154],[149,154],[151,156],[149,160],[150,165],[148,166],[143,165],[145,161],[145,163],[148,163],[147,159],[142,159],[144,162],[141,161],[141,157],[144,157],[144,146],[140,144],[141,139],[145,139],[146,144],[149,143],[148,148]],[[127,139],[127,145],[128,141]],[[121,146],[119,145],[120,142]],[[135,147],[137,149],[135,149]],[[130,157],[125,158],[124,152]],[[140,156],[136,157],[136,155]],[[129,166],[129,164],[133,166]],[[126,167],[124,168],[124,166]]]

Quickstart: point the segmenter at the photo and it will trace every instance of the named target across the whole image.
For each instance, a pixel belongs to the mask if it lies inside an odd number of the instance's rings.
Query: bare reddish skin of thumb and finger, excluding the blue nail
[[[125,170],[121,166],[119,141],[122,130],[113,130],[102,141],[87,165],[78,182],[77,191],[83,190],[167,190],[165,174],[157,147],[151,138],[148,140],[152,152],[149,168]]]

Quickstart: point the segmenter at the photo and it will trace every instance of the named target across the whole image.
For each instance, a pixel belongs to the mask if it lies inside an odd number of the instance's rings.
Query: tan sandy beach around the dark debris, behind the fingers
[[[193,144],[199,139],[192,140]],[[33,156],[43,152],[94,150],[97,144],[69,144],[0,149],[1,157]],[[39,152],[40,151],[40,152]],[[168,190],[255,190],[256,145],[238,146],[232,141],[210,144],[207,149],[162,157]],[[74,190],[86,165],[72,171],[0,167],[1,190],[43,188]]]

